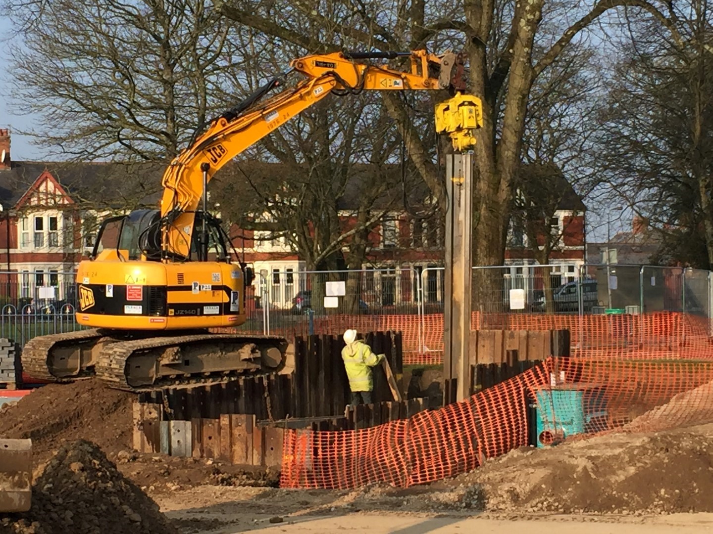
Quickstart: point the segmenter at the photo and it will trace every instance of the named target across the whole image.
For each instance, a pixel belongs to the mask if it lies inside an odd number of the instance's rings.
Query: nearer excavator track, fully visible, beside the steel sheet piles
[[[117,340],[103,347],[95,372],[109,387],[146,392],[274,374],[288,352],[287,340],[277,336],[205,333]]]

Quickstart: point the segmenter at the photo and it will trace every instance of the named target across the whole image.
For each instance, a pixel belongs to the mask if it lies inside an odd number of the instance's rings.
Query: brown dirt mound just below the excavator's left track
[[[31,438],[38,461],[76,439],[91,439],[105,452],[129,449],[134,397],[98,379],[47,384],[0,410],[0,436]]]

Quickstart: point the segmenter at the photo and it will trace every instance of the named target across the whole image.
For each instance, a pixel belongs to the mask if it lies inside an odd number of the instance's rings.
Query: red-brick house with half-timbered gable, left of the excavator
[[[6,129],[0,155],[0,305],[71,300],[99,221],[159,198],[155,165],[14,161]]]

